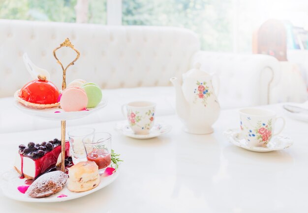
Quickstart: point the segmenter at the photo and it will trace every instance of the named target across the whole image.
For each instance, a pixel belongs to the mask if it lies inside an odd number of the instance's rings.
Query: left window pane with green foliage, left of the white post
[[[106,0],[0,0],[0,18],[106,24]]]

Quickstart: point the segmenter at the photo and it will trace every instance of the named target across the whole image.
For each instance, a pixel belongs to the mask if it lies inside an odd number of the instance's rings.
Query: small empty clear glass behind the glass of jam
[[[69,147],[72,155],[73,163],[76,164],[80,161],[87,161],[87,154],[82,139],[89,134],[93,134],[95,129],[93,128],[80,128],[69,131]]]

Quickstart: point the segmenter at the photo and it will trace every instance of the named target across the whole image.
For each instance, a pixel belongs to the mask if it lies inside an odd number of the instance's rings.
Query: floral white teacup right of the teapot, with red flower
[[[283,121],[282,127],[274,133],[277,119]],[[281,133],[285,126],[282,117],[268,109],[244,108],[240,110],[241,130],[248,146],[266,147],[273,135]]]

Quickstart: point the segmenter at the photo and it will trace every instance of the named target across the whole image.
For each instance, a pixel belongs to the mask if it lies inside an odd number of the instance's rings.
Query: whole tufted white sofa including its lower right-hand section
[[[67,71],[67,82],[93,81],[109,100],[103,110],[68,126],[123,119],[121,106],[133,100],[156,102],[157,115],[175,113],[169,79],[181,78],[195,62],[218,75],[222,108],[268,104],[270,85],[279,76],[274,57],[204,52],[196,34],[184,28],[0,20],[0,133],[59,126],[18,111],[12,96],[31,80],[22,60],[25,52],[61,88],[62,70],[52,53],[66,37],[81,53]],[[71,53],[65,49],[58,55],[68,62]]]

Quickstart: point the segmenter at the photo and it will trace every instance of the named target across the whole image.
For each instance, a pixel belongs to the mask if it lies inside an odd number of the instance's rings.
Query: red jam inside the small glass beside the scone
[[[93,149],[91,153],[88,153],[87,159],[94,161],[98,169],[106,168],[111,163],[111,155],[104,149]]]

